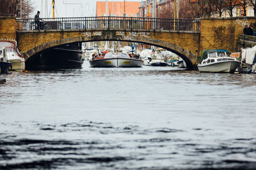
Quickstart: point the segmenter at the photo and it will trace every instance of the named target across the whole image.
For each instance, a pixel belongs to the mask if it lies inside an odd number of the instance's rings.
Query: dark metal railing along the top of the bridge
[[[40,29],[142,29],[200,31],[200,19],[141,17],[42,18],[48,27]],[[17,19],[18,31],[36,30],[34,18]]]

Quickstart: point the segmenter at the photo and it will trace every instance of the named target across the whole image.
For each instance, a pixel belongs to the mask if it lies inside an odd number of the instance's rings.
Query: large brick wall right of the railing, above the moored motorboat
[[[255,17],[202,18],[200,52],[205,49],[225,49],[237,52],[238,34],[245,24],[254,24]]]

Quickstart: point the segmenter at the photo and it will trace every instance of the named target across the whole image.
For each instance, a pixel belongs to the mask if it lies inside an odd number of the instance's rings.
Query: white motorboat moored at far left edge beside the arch
[[[6,49],[7,60],[12,62],[10,70],[22,71],[25,69],[24,57],[20,54],[15,40],[0,39],[0,46]]]

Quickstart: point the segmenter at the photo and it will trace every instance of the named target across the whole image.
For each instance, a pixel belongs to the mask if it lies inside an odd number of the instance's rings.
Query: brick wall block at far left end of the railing
[[[0,39],[16,39],[16,20],[14,17],[0,17]]]

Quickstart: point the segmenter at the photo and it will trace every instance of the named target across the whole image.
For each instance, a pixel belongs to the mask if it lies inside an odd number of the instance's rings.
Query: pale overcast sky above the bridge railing
[[[108,2],[111,1],[123,2],[124,0],[108,0]],[[125,2],[127,1],[140,2],[141,0],[125,0]],[[36,11],[40,11],[41,18],[52,17],[52,0],[31,0],[31,2],[35,6],[35,11],[31,17],[36,14]],[[55,0],[55,17],[94,17],[96,2],[97,0]],[[45,4],[47,4],[47,10],[45,10]],[[43,8],[41,8],[42,6]]]

